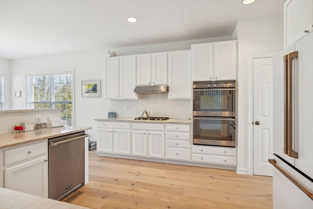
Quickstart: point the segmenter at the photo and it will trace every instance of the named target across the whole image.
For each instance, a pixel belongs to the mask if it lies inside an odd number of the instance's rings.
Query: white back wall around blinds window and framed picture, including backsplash
[[[145,46],[131,46],[115,49],[110,48],[110,50],[111,52],[116,51],[117,55],[121,56],[140,53],[184,50],[190,49],[191,44],[227,40],[231,40],[231,36],[170,42]],[[12,60],[11,71],[14,75],[12,76],[12,90],[22,91],[22,98],[12,97],[12,109],[26,108],[25,72],[75,69],[75,126],[92,126],[92,130],[89,131],[91,139],[96,138],[96,122],[93,119],[107,116],[107,106],[111,106],[111,110],[116,111],[116,114],[118,116],[138,117],[141,116],[144,108],[146,108],[147,111],[150,111],[151,116],[186,118],[192,114],[190,100],[168,100],[167,94],[143,95],[141,100],[105,100],[103,98],[103,61],[104,58],[107,57],[107,53],[108,49],[104,49]],[[102,81],[102,97],[82,98],[81,81],[95,79],[100,79]],[[129,106],[129,111],[124,111],[125,105]],[[183,112],[183,106],[187,107],[187,112]]]

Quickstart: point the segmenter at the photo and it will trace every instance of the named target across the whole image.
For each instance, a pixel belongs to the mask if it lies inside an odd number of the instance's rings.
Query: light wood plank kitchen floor
[[[89,152],[89,184],[78,190],[85,193],[72,204],[96,209],[272,208],[271,177],[99,157],[95,151]]]

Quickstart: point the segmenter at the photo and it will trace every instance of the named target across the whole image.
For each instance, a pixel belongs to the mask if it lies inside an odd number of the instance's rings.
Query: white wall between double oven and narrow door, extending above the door
[[[238,166],[237,171],[247,173],[247,59],[256,52],[283,49],[283,16],[241,20],[234,36],[238,36]]]

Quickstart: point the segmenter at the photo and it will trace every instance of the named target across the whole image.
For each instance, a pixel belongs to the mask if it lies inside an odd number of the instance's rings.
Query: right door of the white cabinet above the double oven
[[[214,80],[236,80],[237,41],[214,44]]]

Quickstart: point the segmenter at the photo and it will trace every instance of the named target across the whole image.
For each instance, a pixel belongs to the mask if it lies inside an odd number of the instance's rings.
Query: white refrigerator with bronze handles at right
[[[313,209],[313,32],[273,59],[273,209]]]

